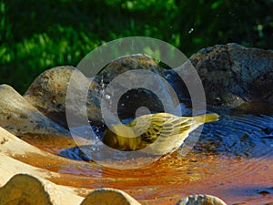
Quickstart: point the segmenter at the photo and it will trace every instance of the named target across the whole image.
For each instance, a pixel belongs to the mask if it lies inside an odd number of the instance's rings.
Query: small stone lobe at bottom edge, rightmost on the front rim
[[[177,205],[227,205],[223,200],[211,195],[190,195],[177,202]]]

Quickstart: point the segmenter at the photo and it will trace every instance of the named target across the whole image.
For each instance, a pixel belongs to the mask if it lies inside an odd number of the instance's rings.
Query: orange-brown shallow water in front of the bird
[[[64,144],[66,147],[70,142]],[[50,144],[50,140],[47,140],[46,146],[36,146],[52,152],[58,150]],[[37,166],[35,161],[39,159],[37,156],[34,158],[27,161],[33,161]],[[66,164],[45,161],[43,168],[65,174],[63,179],[51,179],[58,184],[125,190],[142,204],[175,204],[190,194],[215,195],[227,204],[265,204],[273,201],[272,155],[231,159],[195,152],[181,156],[176,152],[140,169],[110,169],[96,162],[76,160]]]

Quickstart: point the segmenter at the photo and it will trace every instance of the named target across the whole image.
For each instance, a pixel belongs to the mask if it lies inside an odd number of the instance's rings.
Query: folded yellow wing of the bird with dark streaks
[[[168,113],[141,116],[135,120],[140,127],[146,128],[141,132],[141,139],[147,143],[153,143],[158,137],[167,138],[189,131],[190,127],[197,122],[194,118],[177,117]],[[147,123],[149,123],[148,126]]]

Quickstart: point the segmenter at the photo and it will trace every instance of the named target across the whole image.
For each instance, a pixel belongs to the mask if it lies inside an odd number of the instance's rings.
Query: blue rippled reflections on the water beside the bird
[[[183,113],[189,113],[184,108]],[[187,143],[199,136],[193,151],[196,153],[207,153],[209,155],[225,155],[231,158],[259,158],[272,157],[273,147],[273,111],[271,104],[246,104],[245,107],[235,109],[214,109],[220,113],[220,120],[204,125],[201,135],[196,130],[187,138],[183,149],[187,149]],[[127,122],[130,119],[124,119]],[[104,129],[94,128],[96,135],[100,138]],[[84,151],[83,151],[84,150]],[[84,152],[88,152],[86,155]],[[101,153],[97,145],[89,145],[82,149],[72,148],[62,150],[59,155],[76,160],[92,160],[92,156],[101,155],[99,158],[106,160],[109,156]],[[145,154],[139,158],[145,158]],[[97,159],[97,158],[96,158]],[[122,159],[122,152],[115,156]]]

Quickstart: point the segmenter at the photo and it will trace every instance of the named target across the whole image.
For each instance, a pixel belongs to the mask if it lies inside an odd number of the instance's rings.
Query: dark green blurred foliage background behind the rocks
[[[0,84],[20,93],[43,70],[76,66],[92,49],[150,36],[191,56],[236,42],[273,47],[272,0],[0,0]]]

